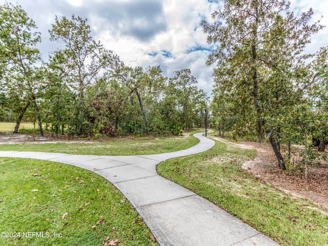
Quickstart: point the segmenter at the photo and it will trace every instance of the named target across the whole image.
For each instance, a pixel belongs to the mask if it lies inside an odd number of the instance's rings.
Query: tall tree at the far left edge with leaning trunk
[[[7,68],[5,72],[2,71],[1,80],[11,98],[13,111],[18,116],[14,133],[18,132],[20,122],[31,104],[38,112],[38,72],[35,64],[41,58],[36,49],[40,33],[35,32],[35,29],[33,20],[19,5],[6,3],[0,7],[0,58]],[[43,135],[42,127],[40,135]]]

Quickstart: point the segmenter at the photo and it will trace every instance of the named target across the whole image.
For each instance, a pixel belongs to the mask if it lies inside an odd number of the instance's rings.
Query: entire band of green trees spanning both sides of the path
[[[179,134],[203,126],[209,98],[189,69],[168,78],[159,66],[126,66],[74,15],[54,19],[50,39],[65,48],[45,62],[27,13],[11,4],[0,11],[0,120],[16,121],[15,133],[22,120],[56,136]],[[295,16],[283,0],[226,0],[214,23],[200,23],[214,47],[207,64],[217,65],[210,121],[220,135],[270,141],[281,169],[292,163],[293,143],[305,146],[306,169],[316,158],[311,137],[320,150],[328,138],[328,48],[305,52],[324,28],[312,16],[312,9]]]

